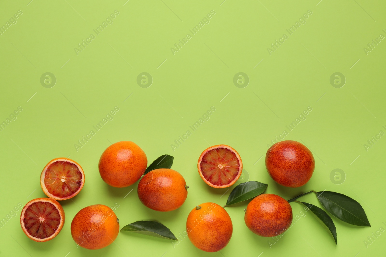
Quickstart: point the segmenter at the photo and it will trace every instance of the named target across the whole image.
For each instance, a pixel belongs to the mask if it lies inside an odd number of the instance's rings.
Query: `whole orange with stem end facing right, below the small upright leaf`
[[[138,184],[139,200],[153,210],[178,209],[188,196],[188,186],[181,174],[171,169],[149,171]]]

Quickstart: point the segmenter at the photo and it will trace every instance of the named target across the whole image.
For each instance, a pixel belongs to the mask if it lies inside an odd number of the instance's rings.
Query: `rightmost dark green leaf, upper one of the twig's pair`
[[[335,217],[352,225],[371,227],[366,213],[356,200],[331,191],[315,193],[323,207]]]

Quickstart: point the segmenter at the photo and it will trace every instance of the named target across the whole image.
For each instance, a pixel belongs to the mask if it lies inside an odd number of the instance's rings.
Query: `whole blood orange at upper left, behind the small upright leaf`
[[[134,184],[147,167],[146,154],[131,141],[110,145],[100,156],[99,173],[103,181],[114,187]]]

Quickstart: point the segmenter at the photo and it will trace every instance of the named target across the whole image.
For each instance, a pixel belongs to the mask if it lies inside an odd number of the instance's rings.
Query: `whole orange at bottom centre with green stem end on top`
[[[198,249],[217,252],[227,246],[232,237],[232,220],[220,205],[203,203],[189,213],[186,232]]]

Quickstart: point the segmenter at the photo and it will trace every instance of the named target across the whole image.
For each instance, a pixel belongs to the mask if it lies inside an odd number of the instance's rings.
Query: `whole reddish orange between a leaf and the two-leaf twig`
[[[292,208],[278,195],[258,195],[248,203],[244,221],[253,233],[262,237],[274,237],[285,232],[291,225]]]

